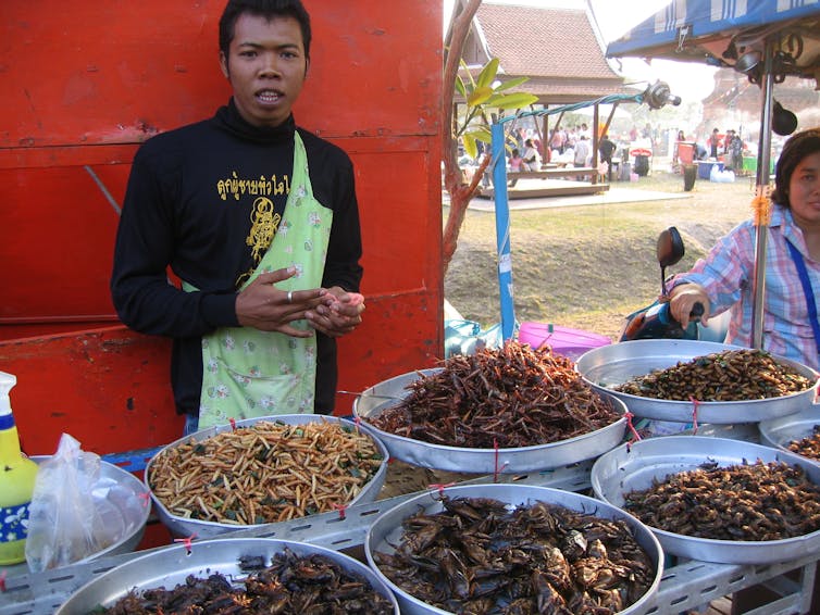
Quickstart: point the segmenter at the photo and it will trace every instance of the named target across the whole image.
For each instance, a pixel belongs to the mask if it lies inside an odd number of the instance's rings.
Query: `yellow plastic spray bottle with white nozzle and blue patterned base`
[[[20,450],[9,391],[17,378],[0,372],[0,565],[25,562],[28,505],[37,464]]]

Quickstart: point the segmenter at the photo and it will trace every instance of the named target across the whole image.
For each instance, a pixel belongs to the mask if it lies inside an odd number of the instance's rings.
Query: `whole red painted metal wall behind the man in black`
[[[351,155],[364,324],[340,342],[343,390],[443,353],[442,0],[306,0],[312,62],[297,122]],[[0,36],[0,369],[24,445],[70,432],[101,454],[178,437],[167,340],[117,324],[108,280],[131,160],[209,117],[224,1],[4,0]],[[350,412],[350,396],[337,413]]]

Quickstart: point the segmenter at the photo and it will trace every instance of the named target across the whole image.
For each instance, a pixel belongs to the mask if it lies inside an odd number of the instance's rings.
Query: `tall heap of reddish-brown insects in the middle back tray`
[[[409,385],[398,404],[365,417],[377,429],[434,444],[512,449],[596,431],[621,418],[549,349],[508,341],[456,355]]]

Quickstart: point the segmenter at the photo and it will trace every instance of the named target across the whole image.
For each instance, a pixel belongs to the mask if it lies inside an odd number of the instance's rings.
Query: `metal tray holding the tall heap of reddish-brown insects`
[[[353,414],[364,421],[409,394],[407,387],[423,376],[440,372],[442,368],[408,372],[395,378],[384,380],[362,393],[353,401]],[[626,406],[611,391],[598,391],[601,397],[612,401],[620,414],[626,413]],[[554,469],[564,465],[593,459],[609,451],[623,441],[626,431],[625,416],[597,431],[583,434],[568,440],[548,444],[520,447],[517,449],[467,449],[446,447],[396,436],[388,431],[368,426],[384,442],[390,456],[411,465],[447,472],[476,474],[519,474],[541,469]]]

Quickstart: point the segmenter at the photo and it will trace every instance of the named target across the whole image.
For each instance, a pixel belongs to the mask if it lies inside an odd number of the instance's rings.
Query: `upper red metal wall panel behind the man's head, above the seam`
[[[442,0],[306,0],[311,66],[297,120],[328,137],[439,126]],[[3,0],[0,147],[122,143],[200,120],[231,95],[224,0]],[[437,147],[437,146],[436,146]]]

